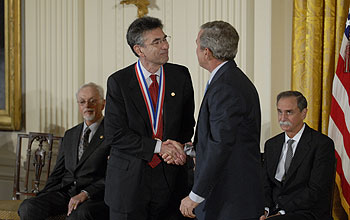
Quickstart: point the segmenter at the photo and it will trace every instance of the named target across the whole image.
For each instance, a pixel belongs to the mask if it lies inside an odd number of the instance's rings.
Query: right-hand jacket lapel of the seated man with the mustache
[[[297,149],[293,156],[292,162],[289,167],[288,174],[286,176],[286,181],[290,176],[297,170],[299,165],[303,162],[304,157],[307,155],[307,152],[310,150],[310,141],[311,141],[311,132],[310,128],[305,124],[305,130],[298,142]]]

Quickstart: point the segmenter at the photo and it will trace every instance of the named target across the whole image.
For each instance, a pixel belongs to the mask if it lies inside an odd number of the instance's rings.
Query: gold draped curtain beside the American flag
[[[350,0],[294,0],[292,89],[308,100],[306,123],[328,133],[332,82],[338,62]],[[339,201],[339,195],[335,193]],[[343,219],[340,202],[335,219]],[[338,209],[337,209],[338,207]]]

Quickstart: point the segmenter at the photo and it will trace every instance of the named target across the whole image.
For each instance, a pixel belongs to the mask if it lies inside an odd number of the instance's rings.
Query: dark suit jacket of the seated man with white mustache
[[[275,174],[284,141],[281,133],[265,143],[265,206],[271,212],[278,204],[286,213],[302,213],[309,219],[332,219],[329,208],[335,168],[333,141],[305,124],[282,184]]]

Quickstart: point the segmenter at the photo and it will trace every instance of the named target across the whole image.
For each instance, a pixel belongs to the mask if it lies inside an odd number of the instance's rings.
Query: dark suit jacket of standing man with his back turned
[[[203,98],[195,136],[192,191],[204,197],[198,219],[258,218],[263,213],[258,93],[234,61]]]

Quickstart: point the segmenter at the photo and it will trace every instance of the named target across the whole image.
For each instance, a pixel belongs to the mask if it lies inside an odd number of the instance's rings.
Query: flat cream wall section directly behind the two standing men
[[[120,5],[117,2],[85,3],[85,79],[104,86],[111,73],[137,60],[125,39],[128,26],[136,18],[136,7]],[[254,20],[251,16],[254,14],[253,6],[252,0],[151,1],[149,15],[160,18],[164,22],[164,31],[172,37],[170,62],[183,64],[190,69],[197,111],[209,76],[207,71],[198,66],[195,55],[195,39],[199,26],[216,19],[232,23],[242,38],[237,61],[252,78],[254,68],[250,60],[254,52]]]

